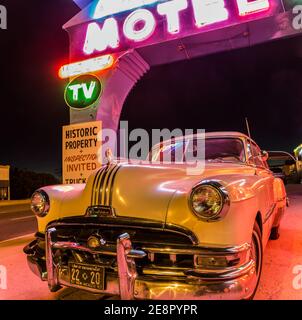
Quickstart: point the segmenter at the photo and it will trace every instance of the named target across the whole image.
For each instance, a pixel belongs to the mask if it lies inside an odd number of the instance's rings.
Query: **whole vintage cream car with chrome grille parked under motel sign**
[[[205,144],[205,168],[183,159]],[[153,163],[108,162],[86,185],[36,191],[36,239],[24,252],[51,291],[62,286],[121,299],[251,299],[263,249],[278,238],[283,182],[244,134],[207,133],[155,146]],[[174,159],[175,160],[175,159]]]

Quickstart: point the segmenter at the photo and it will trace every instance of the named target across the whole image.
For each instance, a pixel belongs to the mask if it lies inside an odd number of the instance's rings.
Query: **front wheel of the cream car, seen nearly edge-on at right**
[[[252,300],[257,292],[261,271],[262,271],[262,256],[263,256],[263,249],[262,249],[262,240],[261,240],[261,230],[257,222],[254,224],[253,234],[252,234],[252,242],[251,242],[251,255],[252,259],[255,261],[256,264],[256,279],[253,283],[253,286],[250,288],[251,295],[248,296],[247,300]]]

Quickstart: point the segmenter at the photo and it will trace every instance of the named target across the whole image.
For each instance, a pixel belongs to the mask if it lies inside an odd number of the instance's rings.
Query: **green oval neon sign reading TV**
[[[102,84],[94,75],[73,79],[65,89],[65,101],[73,109],[86,109],[100,97]]]

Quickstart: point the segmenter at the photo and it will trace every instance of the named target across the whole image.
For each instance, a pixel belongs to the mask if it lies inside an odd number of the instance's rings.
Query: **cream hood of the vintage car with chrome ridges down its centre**
[[[165,222],[176,193],[189,194],[202,180],[223,180],[226,185],[250,171],[242,164],[207,163],[203,172],[188,175],[186,165],[113,165],[94,178],[92,205],[112,206],[117,216]],[[102,196],[101,196],[102,194]]]

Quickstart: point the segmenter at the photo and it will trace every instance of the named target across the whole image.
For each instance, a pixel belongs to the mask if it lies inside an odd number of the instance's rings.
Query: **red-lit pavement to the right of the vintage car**
[[[290,207],[281,224],[280,238],[269,241],[264,252],[258,300],[302,300],[301,280],[300,288],[293,285],[297,279],[294,269],[302,268],[302,185],[289,185],[287,191]]]

